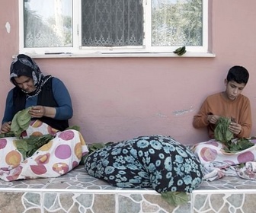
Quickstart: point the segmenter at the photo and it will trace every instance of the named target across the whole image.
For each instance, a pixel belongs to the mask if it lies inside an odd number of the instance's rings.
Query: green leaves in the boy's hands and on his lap
[[[249,141],[247,138],[235,138],[232,140],[234,135],[229,130],[231,122],[232,120],[230,118],[220,117],[216,124],[216,128],[214,129],[214,138],[226,146],[224,151],[235,153],[253,146],[254,143]]]

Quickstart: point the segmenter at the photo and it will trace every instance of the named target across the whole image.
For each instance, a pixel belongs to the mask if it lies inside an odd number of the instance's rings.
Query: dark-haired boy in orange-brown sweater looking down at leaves
[[[204,100],[199,113],[194,116],[194,128],[207,127],[210,138],[214,138],[214,128],[219,117],[229,117],[229,126],[236,138],[248,138],[251,135],[251,105],[242,91],[248,82],[246,68],[235,65],[229,69],[224,81],[226,91],[210,95]]]

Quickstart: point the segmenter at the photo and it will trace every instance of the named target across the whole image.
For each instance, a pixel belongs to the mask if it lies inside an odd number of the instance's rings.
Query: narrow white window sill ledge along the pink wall
[[[30,54],[34,59],[47,59],[47,58],[213,58],[216,57],[213,52],[186,52],[182,56],[178,56],[173,52],[94,52],[94,53],[71,53],[71,52],[53,52],[46,54]],[[13,56],[15,58],[16,56]]]

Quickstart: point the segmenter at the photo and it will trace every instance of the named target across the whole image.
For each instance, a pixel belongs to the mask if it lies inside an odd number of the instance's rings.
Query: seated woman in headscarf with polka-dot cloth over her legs
[[[2,180],[60,176],[76,167],[88,152],[80,132],[67,129],[72,118],[72,100],[58,78],[44,76],[29,56],[18,55],[11,63],[9,91],[1,133],[11,132],[11,121],[21,110],[30,109],[31,122],[21,138],[31,135],[53,135],[31,157],[18,150],[18,138],[1,138],[0,178]],[[30,107],[30,108],[28,108]]]

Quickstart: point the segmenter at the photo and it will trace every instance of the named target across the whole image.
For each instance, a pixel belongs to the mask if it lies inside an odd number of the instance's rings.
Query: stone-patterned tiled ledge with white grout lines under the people
[[[0,181],[0,212],[256,212],[256,182],[226,176],[203,182],[186,205],[168,205],[153,189],[120,189],[79,166],[50,179]],[[255,210],[254,210],[255,209]]]

